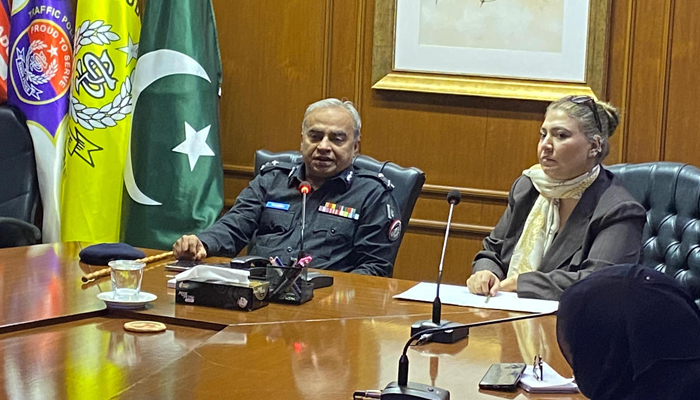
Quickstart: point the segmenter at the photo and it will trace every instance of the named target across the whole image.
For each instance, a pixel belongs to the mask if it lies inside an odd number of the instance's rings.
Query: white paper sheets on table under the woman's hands
[[[435,283],[421,282],[395,299],[432,302],[435,299]],[[463,307],[489,308],[493,310],[551,313],[559,308],[558,301],[519,298],[511,292],[499,292],[486,302],[486,296],[471,294],[466,286],[440,285],[440,301]]]

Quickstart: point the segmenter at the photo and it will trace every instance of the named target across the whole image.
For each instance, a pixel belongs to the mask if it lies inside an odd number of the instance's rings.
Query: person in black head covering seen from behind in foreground
[[[700,312],[660,272],[613,266],[571,286],[557,340],[592,400],[700,398]]]

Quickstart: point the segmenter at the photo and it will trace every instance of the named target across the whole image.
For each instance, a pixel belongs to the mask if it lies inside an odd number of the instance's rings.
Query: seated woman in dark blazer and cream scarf
[[[513,184],[472,264],[470,292],[556,300],[593,271],[639,260],[645,210],[601,165],[618,121],[617,109],[588,96],[549,105],[539,164]]]

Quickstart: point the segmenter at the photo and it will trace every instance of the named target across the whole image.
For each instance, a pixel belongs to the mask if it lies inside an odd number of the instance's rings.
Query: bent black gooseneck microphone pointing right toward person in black
[[[418,332],[411,337],[406,342],[403,348],[403,353],[401,353],[401,358],[399,358],[399,376],[396,382],[391,382],[387,387],[381,391],[380,399],[382,400],[449,400],[450,392],[445,389],[440,389],[435,386],[425,385],[422,383],[408,382],[408,349],[414,342],[419,344],[427,343],[431,341],[431,336],[443,333],[450,329],[466,330],[469,332],[469,328],[475,328],[477,326],[486,326],[492,324],[500,324],[503,322],[518,321],[521,319],[541,317],[544,315],[551,315],[552,313],[542,313],[542,314],[527,314],[519,315],[517,317],[501,318],[491,321],[474,322],[471,324],[452,324],[449,327],[440,327],[426,329],[424,331]],[[435,341],[435,340],[432,340]]]

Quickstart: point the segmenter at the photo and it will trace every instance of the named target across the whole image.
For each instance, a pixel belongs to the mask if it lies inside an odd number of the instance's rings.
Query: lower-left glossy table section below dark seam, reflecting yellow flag
[[[131,333],[127,321],[97,317],[0,335],[0,398],[110,398],[216,334],[178,325]]]

